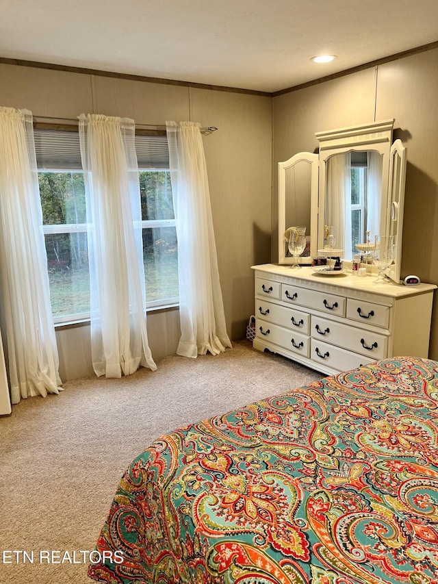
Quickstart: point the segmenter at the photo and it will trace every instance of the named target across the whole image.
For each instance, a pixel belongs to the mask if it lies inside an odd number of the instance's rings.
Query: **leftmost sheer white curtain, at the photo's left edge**
[[[1,307],[12,403],[57,394],[61,379],[51,312],[32,114],[0,107]]]

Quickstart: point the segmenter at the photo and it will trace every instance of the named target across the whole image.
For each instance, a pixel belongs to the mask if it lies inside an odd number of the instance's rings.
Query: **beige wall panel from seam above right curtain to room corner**
[[[211,212],[225,318],[231,337],[243,338],[254,309],[254,274],[248,268],[254,259],[270,262],[271,103],[203,89],[192,89],[190,96],[192,119],[220,128],[204,140]]]

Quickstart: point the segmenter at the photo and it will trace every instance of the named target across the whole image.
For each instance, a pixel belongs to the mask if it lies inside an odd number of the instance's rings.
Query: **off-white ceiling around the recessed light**
[[[263,92],[438,40],[438,0],[0,0],[0,14],[0,58]]]

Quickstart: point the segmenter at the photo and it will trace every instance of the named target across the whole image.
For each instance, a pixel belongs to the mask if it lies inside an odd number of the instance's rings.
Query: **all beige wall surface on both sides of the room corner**
[[[0,64],[0,104],[27,108],[34,116],[76,118],[96,112],[131,117],[138,124],[191,119],[219,128],[203,141],[233,339],[244,336],[253,312],[250,266],[277,257],[277,163],[299,151],[314,151],[316,131],[395,118],[394,138],[408,148],[402,274],[438,284],[437,95],[438,49],[273,99]],[[175,310],[149,314],[156,359],[175,353],[177,320]],[[57,338],[64,379],[88,374],[88,328],[62,329]],[[430,357],[438,359],[438,307]]]

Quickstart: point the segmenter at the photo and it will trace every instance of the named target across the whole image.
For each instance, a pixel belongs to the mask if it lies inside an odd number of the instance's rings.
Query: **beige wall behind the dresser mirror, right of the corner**
[[[394,139],[407,146],[402,275],[438,284],[438,49],[394,60],[273,99],[276,164],[318,146],[315,132],[395,118]],[[277,216],[273,196],[273,217]],[[276,257],[274,221],[272,257]],[[435,292],[430,357],[438,359]]]

